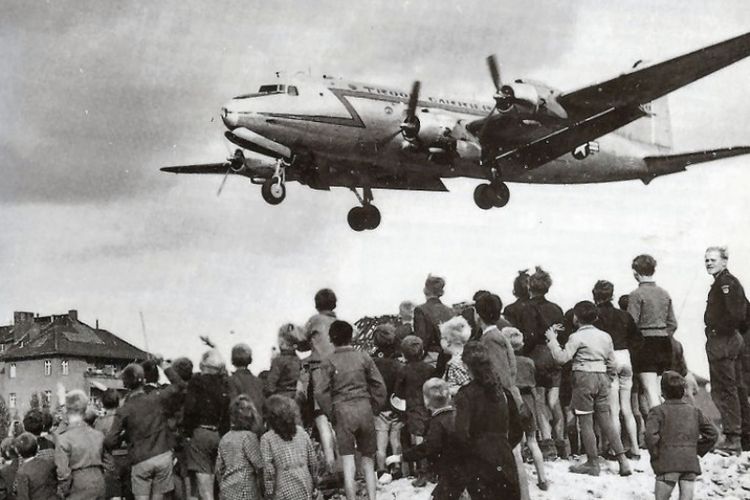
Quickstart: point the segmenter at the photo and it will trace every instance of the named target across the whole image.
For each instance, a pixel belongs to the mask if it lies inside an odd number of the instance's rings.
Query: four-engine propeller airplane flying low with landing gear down
[[[287,182],[346,187],[359,201],[347,216],[355,231],[380,224],[374,189],[447,191],[443,179],[480,179],[474,201],[488,210],[508,203],[508,182],[648,184],[689,165],[750,153],[742,146],[674,154],[665,97],[748,55],[750,33],[658,64],[638,61],[627,73],[571,92],[503,82],[490,56],[494,102],[423,97],[419,81],[404,92],[293,77],[221,108],[224,135],[236,147],[226,161],[161,170],[223,174],[219,193],[229,175],[244,176],[261,185],[271,205],[284,201]]]

